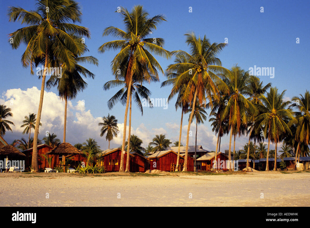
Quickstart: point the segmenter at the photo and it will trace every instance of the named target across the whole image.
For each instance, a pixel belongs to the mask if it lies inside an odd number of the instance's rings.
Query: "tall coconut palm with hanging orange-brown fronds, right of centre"
[[[224,90],[226,87],[223,84],[216,85],[215,81],[221,81],[221,79],[215,74],[219,71],[223,73],[227,71],[221,66],[221,61],[216,57],[217,54],[226,46],[225,43],[213,43],[211,44],[209,39],[204,36],[203,38],[196,37],[194,33],[185,34],[186,43],[188,44],[191,53],[188,54],[185,51],[173,51],[176,56],[184,56],[188,59],[188,63],[175,63],[166,69],[166,74],[175,74],[173,78],[173,88],[170,95],[177,94],[180,89],[186,85],[183,92],[182,101],[184,103],[192,104],[192,112],[190,114],[187,137],[186,137],[186,150],[184,159],[183,171],[187,171],[187,156],[188,156],[188,140],[190,124],[192,122],[196,99],[199,104],[206,104],[206,100],[212,101],[212,95],[217,96],[219,89]],[[180,73],[181,72],[181,73]],[[180,74],[179,74],[180,73]]]

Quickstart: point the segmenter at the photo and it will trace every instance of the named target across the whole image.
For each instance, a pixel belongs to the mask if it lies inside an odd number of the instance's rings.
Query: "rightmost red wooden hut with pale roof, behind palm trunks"
[[[197,162],[201,162],[201,170],[205,170],[205,171],[211,171],[211,168],[214,164],[214,157],[215,157],[215,152],[210,152],[207,153],[203,156],[201,156],[200,158],[197,158]],[[218,152],[217,156],[216,156],[216,160],[217,160],[217,169],[222,169],[222,170],[228,170],[227,166],[226,166],[226,160],[228,160],[228,157],[223,154],[222,152]],[[223,163],[224,168],[223,168]]]

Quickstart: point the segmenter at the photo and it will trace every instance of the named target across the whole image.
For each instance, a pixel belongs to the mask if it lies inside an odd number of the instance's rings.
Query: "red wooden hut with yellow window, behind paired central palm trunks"
[[[102,159],[101,159],[101,166],[104,166],[106,172],[118,172],[120,165],[121,165],[121,155],[122,150],[120,148],[113,148],[102,151]],[[130,154],[129,164],[133,163],[133,158],[135,155]],[[127,161],[127,151],[124,154],[124,169],[126,168],[126,161]]]

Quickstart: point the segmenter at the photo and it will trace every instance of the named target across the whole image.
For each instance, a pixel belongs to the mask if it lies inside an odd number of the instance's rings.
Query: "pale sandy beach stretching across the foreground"
[[[0,205],[310,206],[309,171],[242,174],[0,173]]]

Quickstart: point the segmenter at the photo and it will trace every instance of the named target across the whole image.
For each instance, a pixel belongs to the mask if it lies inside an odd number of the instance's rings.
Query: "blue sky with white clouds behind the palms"
[[[117,89],[104,91],[102,86],[108,80],[114,79],[111,74],[110,63],[116,52],[109,51],[99,54],[97,49],[104,42],[113,40],[113,37],[102,37],[103,29],[113,25],[123,28],[121,16],[115,13],[118,6],[126,7],[130,10],[134,5],[141,4],[150,16],[164,14],[166,22],[158,26],[157,30],[150,37],[162,37],[165,39],[165,48],[169,51],[182,49],[188,51],[185,44],[184,34],[195,32],[196,35],[204,36],[211,42],[224,42],[228,38],[228,46],[219,54],[222,64],[226,68],[238,64],[241,68],[248,70],[249,67],[274,67],[275,77],[261,76],[264,84],[271,82],[280,92],[286,91],[286,98],[290,99],[299,93],[309,90],[309,3],[307,1],[79,1],[82,6],[82,23],[91,31],[91,39],[86,39],[89,48],[87,55],[98,58],[99,67],[85,65],[95,75],[95,79],[87,79],[88,87],[80,93],[76,99],[72,100],[72,107],[69,107],[67,141],[74,144],[83,142],[88,137],[95,138],[101,149],[107,147],[104,138],[100,138],[99,131],[95,127],[99,117],[113,114],[119,123],[124,122],[125,107],[118,104],[113,110],[108,110],[107,101],[115,94]],[[30,69],[21,66],[20,58],[24,52],[24,45],[17,50],[12,50],[9,46],[8,34],[21,28],[19,23],[8,22],[7,9],[9,6],[20,6],[24,9],[35,9],[35,1],[13,0],[1,2],[1,34],[0,47],[1,57],[1,83],[0,83],[0,103],[12,108],[15,114],[11,120],[15,123],[13,133],[7,132],[5,139],[12,141],[15,138],[27,137],[22,135],[19,124],[23,116],[28,112],[37,113],[39,97],[35,94],[33,87],[40,88],[41,81],[37,76],[30,75]],[[189,12],[192,7],[192,12]],[[264,7],[264,12],[260,12],[260,7]],[[300,43],[296,43],[299,38]],[[163,69],[172,63],[173,60],[165,60],[158,57]],[[160,75],[160,81],[165,77]],[[152,92],[153,98],[168,97],[171,88],[160,88],[160,83],[146,85]],[[14,90],[15,89],[15,90]],[[16,90],[18,89],[18,90]],[[28,90],[28,92],[27,92]],[[45,125],[40,127],[42,131],[55,132],[62,139],[62,122],[60,121],[63,106],[53,101],[56,99],[55,88],[49,91],[51,97],[46,95],[43,110],[50,109],[50,115],[42,118]],[[53,94],[54,93],[54,94]],[[8,95],[10,97],[8,97]],[[10,103],[11,100],[13,103]],[[85,101],[85,107],[81,108],[79,101]],[[29,102],[28,102],[29,101]],[[175,111],[175,100],[171,101],[168,108],[162,107],[144,108],[144,115],[133,106],[132,110],[132,131],[144,140],[144,146],[152,140],[155,133],[163,132],[171,141],[178,140],[178,127],[180,122],[180,111]],[[12,104],[12,105],[10,105]],[[27,106],[27,105],[28,106]],[[32,105],[30,105],[32,104]],[[45,106],[44,106],[45,105]],[[51,108],[51,105],[56,105]],[[57,110],[59,108],[59,110]],[[53,110],[51,110],[53,109]],[[15,110],[15,113],[14,113]],[[24,114],[19,111],[23,110]],[[89,110],[89,111],[88,111]],[[55,112],[55,113],[53,113]],[[70,112],[72,115],[70,115]],[[208,114],[210,113],[207,110]],[[21,116],[21,117],[20,117]],[[18,119],[21,118],[21,119]],[[80,119],[79,119],[80,118]],[[83,118],[86,118],[83,121]],[[187,119],[187,117],[186,117]],[[89,122],[87,122],[89,121]],[[97,121],[95,123],[95,121]],[[87,125],[86,125],[87,124]],[[90,127],[93,124],[94,127]],[[142,125],[141,125],[142,124]],[[71,125],[74,127],[70,128]],[[128,125],[128,123],[127,123]],[[88,126],[88,128],[87,128]],[[96,128],[96,129],[95,129]],[[194,132],[195,127],[191,130]],[[183,135],[186,134],[186,129]],[[194,134],[193,134],[194,135]],[[198,127],[198,144],[204,148],[214,150],[214,133],[207,122]],[[39,138],[44,135],[42,133]],[[246,143],[246,138],[237,139],[237,149]],[[185,145],[185,137],[182,137]],[[228,149],[229,139],[222,139],[221,148]],[[119,146],[116,140],[111,142],[112,146]],[[194,144],[194,137],[190,139],[190,145]]]

